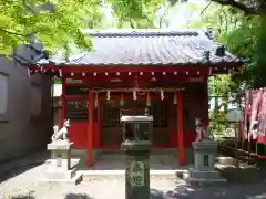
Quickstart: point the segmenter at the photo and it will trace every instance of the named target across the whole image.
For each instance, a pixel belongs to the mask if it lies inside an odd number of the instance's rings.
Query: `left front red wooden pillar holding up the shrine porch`
[[[88,165],[93,164],[93,93],[89,91],[89,125],[88,125]]]

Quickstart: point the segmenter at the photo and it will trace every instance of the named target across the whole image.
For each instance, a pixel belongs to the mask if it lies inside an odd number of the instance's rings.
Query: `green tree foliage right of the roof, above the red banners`
[[[243,3],[246,3],[243,1]],[[254,7],[255,4],[249,4]],[[266,72],[265,43],[266,15],[246,15],[234,7],[223,7],[213,3],[194,22],[197,27],[206,25],[214,30],[217,42],[225,44],[229,52],[237,54],[244,61],[243,74],[232,75],[229,93],[238,94],[246,88],[266,86],[262,74]]]

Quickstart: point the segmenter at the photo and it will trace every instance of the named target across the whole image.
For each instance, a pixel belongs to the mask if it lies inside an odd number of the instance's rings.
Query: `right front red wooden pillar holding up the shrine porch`
[[[184,149],[184,130],[183,130],[183,104],[182,104],[182,92],[177,94],[177,149],[180,165],[185,165],[185,149]]]

